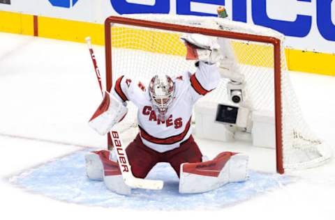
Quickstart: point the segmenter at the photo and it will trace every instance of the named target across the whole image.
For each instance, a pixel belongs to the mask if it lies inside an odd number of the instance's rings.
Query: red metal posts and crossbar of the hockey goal
[[[257,36],[248,33],[237,33],[232,31],[204,29],[200,27],[184,26],[179,24],[168,24],[162,22],[152,22],[142,19],[132,19],[126,17],[110,16],[105,19],[105,62],[106,62],[106,90],[112,89],[112,24],[128,24],[132,26],[142,26],[153,29],[163,29],[168,31],[179,31],[184,33],[200,33],[207,36],[230,38],[237,40],[249,40],[254,42],[269,43],[274,46],[274,100],[275,100],[275,122],[276,122],[276,169],[278,173],[284,173],[283,168],[283,136],[282,136],[282,115],[281,115],[281,40],[274,37]],[[108,138],[108,148],[112,148],[110,137]]]

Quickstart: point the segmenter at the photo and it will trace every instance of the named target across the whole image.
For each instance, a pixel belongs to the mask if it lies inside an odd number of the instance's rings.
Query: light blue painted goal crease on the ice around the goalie
[[[84,205],[133,210],[217,210],[295,181],[287,175],[251,171],[246,182],[227,184],[204,194],[182,195],[178,191],[177,175],[169,164],[162,163],[157,164],[147,178],[164,180],[163,190],[133,189],[131,196],[121,196],[106,189],[101,181],[88,180],[84,168],[86,152],[82,150],[48,162],[11,178],[10,182],[60,201]]]

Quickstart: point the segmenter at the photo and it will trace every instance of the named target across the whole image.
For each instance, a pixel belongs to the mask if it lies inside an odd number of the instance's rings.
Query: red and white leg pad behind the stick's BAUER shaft
[[[89,152],[85,155],[87,176],[90,180],[103,180],[110,191],[130,195],[131,187],[124,183],[119,164],[110,159],[109,150]]]

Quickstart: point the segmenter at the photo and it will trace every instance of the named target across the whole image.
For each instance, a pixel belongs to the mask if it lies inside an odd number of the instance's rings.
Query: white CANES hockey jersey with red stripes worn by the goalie
[[[180,143],[191,136],[193,105],[200,97],[216,88],[219,79],[218,67],[202,62],[194,74],[185,72],[172,79],[174,100],[165,113],[165,121],[158,118],[158,113],[152,107],[149,89],[146,88],[149,81],[136,81],[126,75],[121,76],[117,79],[112,94],[122,102],[133,102],[138,108],[137,121],[144,145],[158,152],[166,152],[178,148]]]

